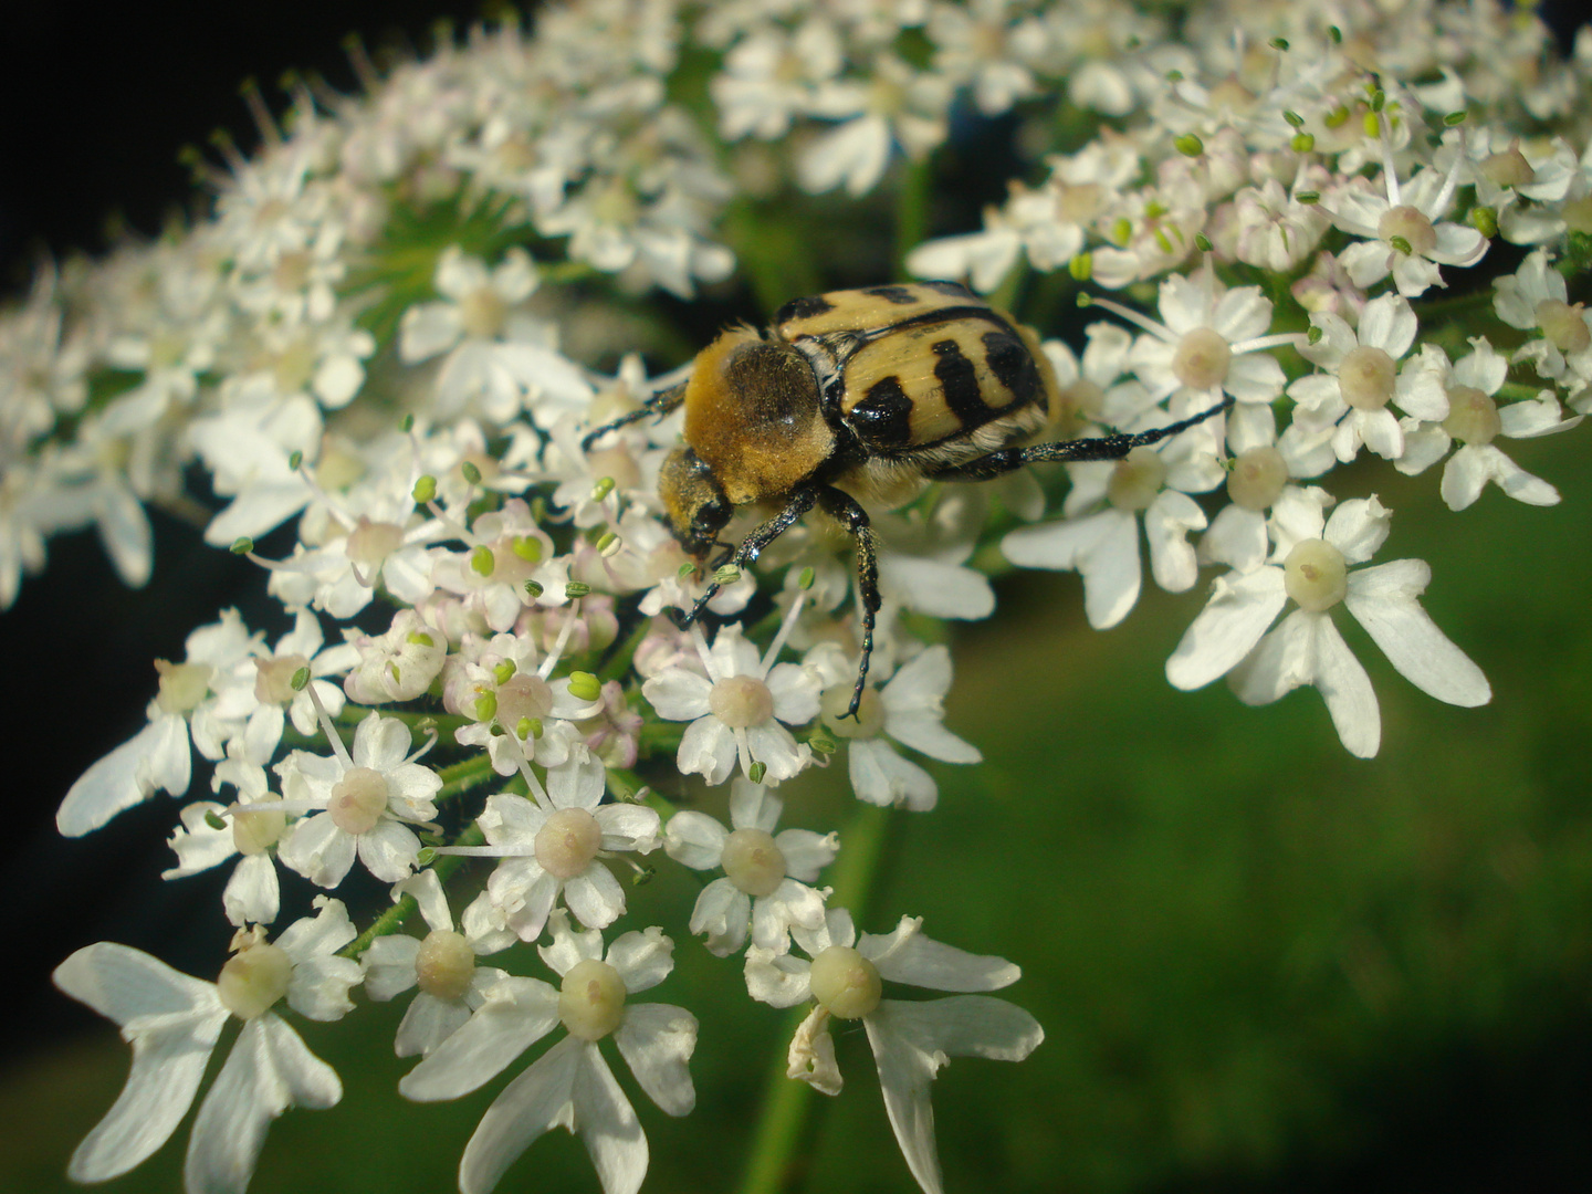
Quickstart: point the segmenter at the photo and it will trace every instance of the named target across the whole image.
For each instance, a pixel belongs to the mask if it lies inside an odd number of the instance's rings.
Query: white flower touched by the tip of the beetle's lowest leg
[[[941,724],[950,691],[950,651],[928,646],[903,664],[880,688],[863,689],[856,716],[844,716],[852,700],[856,665],[834,643],[820,643],[807,664],[825,678],[823,724],[847,742],[847,769],[856,799],[927,812],[939,799],[935,778],[885,742],[892,737],[942,763],[982,763],[984,756]],[[764,942],[758,942],[764,944]]]

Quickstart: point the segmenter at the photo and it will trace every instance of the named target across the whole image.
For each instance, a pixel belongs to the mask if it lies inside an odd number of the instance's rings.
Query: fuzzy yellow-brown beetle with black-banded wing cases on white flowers
[[[987,481],[1041,460],[1121,460],[1227,409],[1135,435],[1025,444],[1060,414],[1038,333],[957,282],[836,290],[786,302],[763,331],[739,325],[680,385],[591,431],[583,446],[685,406],[681,443],[659,471],[670,530],[697,560],[751,564],[818,506],[852,537],[863,613],[845,716],[856,716],[879,613],[879,548],[861,501],[899,506],[930,481]],[[778,508],[739,546],[718,535],[740,506]],[[678,621],[718,592],[712,581]]]

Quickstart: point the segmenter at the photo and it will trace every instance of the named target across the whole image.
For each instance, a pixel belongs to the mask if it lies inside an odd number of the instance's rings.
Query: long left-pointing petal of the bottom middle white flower
[[[525,1049],[559,1027],[559,992],[541,979],[508,977],[486,1003],[398,1083],[417,1102],[458,1098],[492,1081]]]

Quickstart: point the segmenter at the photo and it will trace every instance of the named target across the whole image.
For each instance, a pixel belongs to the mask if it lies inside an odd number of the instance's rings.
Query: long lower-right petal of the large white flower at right
[[[1492,700],[1487,677],[1417,600],[1430,579],[1431,570],[1422,560],[1363,568],[1350,575],[1344,605],[1415,688],[1450,705],[1485,705]]]

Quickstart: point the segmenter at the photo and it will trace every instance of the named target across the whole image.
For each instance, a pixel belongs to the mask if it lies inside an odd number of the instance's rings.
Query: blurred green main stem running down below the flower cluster
[[[841,834],[831,907],[845,907],[853,919],[863,919],[880,869],[885,842],[892,839],[887,829],[893,820],[899,818],[892,817],[888,809],[877,809],[871,804],[856,806],[852,825]],[[896,829],[899,828],[896,825]],[[796,1028],[806,1016],[807,1008],[796,1008],[786,1017],[780,1036],[782,1043],[796,1035]],[[807,1083],[786,1078],[785,1068],[785,1046],[782,1044],[769,1067],[763,1116],[758,1121],[758,1134],[751,1141],[751,1154],[747,1157],[745,1176],[740,1181],[742,1194],[780,1194],[780,1191],[791,1189],[796,1176],[796,1159],[807,1153],[806,1140],[810,1135],[814,1092]]]

